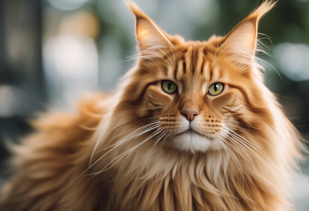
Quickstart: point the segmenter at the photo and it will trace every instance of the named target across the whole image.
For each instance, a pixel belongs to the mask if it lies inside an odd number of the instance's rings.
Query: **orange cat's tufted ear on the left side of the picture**
[[[161,30],[153,20],[131,1],[125,2],[136,18],[136,38],[142,53],[160,51],[173,45],[167,38],[167,33]]]

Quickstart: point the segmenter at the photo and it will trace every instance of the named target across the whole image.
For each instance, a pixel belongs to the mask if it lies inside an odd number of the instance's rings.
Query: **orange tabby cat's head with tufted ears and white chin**
[[[136,17],[139,60],[124,100],[137,120],[158,118],[171,146],[192,153],[222,147],[239,128],[273,125],[272,95],[255,53],[258,22],[275,2],[264,1],[227,35],[207,41],[169,35],[127,4]]]

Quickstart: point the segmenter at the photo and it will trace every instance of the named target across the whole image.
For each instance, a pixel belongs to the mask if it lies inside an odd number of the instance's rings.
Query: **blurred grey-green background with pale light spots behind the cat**
[[[186,40],[226,34],[258,3],[135,2],[163,30]],[[259,56],[273,66],[265,63],[266,84],[309,139],[309,0],[280,0],[259,32],[271,39],[262,41],[272,56]],[[136,53],[134,33],[133,15],[121,0],[1,0],[0,160],[8,156],[3,140],[29,133],[27,119],[36,111],[70,110],[83,93],[112,91],[133,64],[127,60]],[[309,164],[300,165],[304,177],[295,178],[293,203],[309,210]]]

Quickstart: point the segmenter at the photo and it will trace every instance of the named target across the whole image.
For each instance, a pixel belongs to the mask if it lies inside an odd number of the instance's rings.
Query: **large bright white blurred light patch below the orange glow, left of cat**
[[[43,64],[51,102],[64,106],[72,97],[98,87],[98,51],[88,37],[60,35],[44,44]]]

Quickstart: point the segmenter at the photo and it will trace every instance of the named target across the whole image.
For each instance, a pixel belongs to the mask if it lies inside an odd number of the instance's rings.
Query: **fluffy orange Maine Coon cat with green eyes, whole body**
[[[134,3],[139,56],[113,95],[48,113],[14,147],[0,210],[290,210],[299,135],[255,56],[264,1],[185,41]]]

